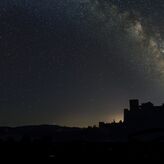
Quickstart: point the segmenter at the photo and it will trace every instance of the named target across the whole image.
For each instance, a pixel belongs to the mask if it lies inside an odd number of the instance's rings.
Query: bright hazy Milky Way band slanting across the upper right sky
[[[115,33],[124,32],[124,34],[119,33],[120,37],[127,39],[122,39],[123,42],[125,41],[128,45],[130,40],[132,46],[138,49],[137,52],[134,50],[131,54],[127,53],[128,60],[132,60],[132,62],[140,61],[134,64],[138,64],[138,67],[145,69],[145,74],[148,76],[154,78],[157,75],[156,78],[163,82],[164,42],[160,31],[154,30],[155,25],[146,24],[146,18],[137,14],[137,11],[121,11],[119,7],[106,1],[104,3],[102,1],[93,1],[90,6],[90,10],[95,15],[95,21],[102,21],[101,26],[105,28],[103,30],[106,34],[111,31]],[[124,45],[124,43],[121,44]],[[121,46],[121,48],[126,47]]]

